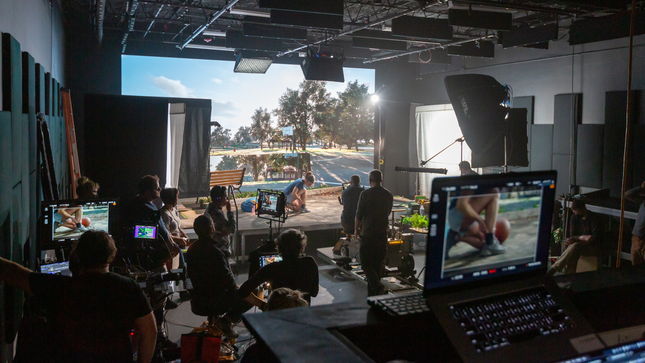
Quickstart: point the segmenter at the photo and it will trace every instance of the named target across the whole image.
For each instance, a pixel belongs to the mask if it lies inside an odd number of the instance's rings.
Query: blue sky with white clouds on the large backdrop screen
[[[232,61],[168,57],[121,56],[121,92],[134,96],[212,99],[212,119],[235,134],[251,123],[257,107],[277,107],[286,88],[303,81],[299,65],[273,64],[266,74],[234,73]],[[345,81],[369,83],[374,92],[374,70],[344,68]],[[345,84],[328,82],[337,97]]]

